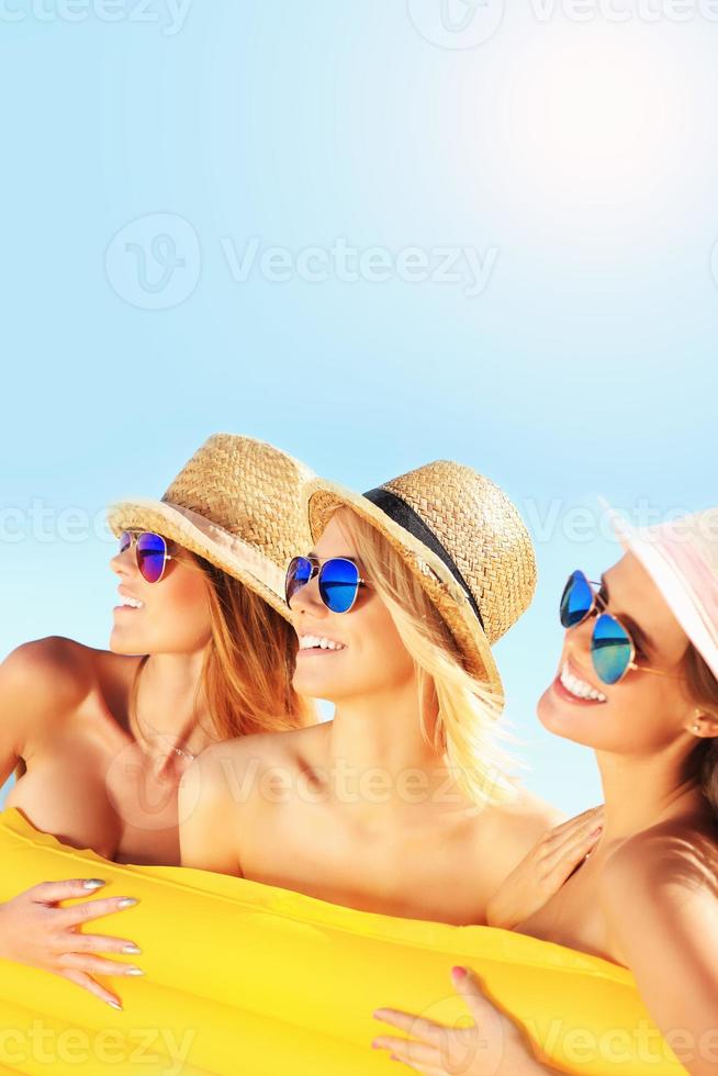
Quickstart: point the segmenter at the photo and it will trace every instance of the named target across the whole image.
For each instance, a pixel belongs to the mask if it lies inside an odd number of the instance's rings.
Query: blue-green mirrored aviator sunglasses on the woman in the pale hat
[[[590,616],[597,617],[591,637],[591,659],[604,684],[619,683],[629,670],[670,676],[661,669],[636,664],[633,638],[618,617],[601,612],[599,606],[605,603],[594,590],[598,585],[586,579],[583,572],[572,572],[561,597],[560,617],[564,628],[575,628]]]

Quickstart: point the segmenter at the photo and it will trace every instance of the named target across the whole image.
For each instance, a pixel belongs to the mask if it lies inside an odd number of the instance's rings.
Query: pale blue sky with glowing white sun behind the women
[[[211,433],[359,489],[452,458],[537,539],[497,648],[527,781],[597,802],[534,707],[565,575],[617,556],[596,495],[716,500],[709,5],[0,8],[0,653],[106,645],[103,508]]]

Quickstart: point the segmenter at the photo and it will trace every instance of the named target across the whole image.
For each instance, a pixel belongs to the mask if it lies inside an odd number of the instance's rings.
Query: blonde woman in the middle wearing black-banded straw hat
[[[334,720],[210,748],[181,782],[182,862],[484,922],[557,821],[494,742],[491,645],[531,601],[528,533],[500,489],[453,462],[363,496],[319,480],[304,495],[314,548],[287,580],[294,687],[334,702]]]

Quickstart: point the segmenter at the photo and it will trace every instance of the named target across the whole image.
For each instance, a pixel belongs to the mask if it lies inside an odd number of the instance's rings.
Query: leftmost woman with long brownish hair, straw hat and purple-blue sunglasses
[[[188,764],[222,739],[316,720],[291,683],[296,636],[283,598],[287,560],[307,534],[299,493],[311,475],[270,445],[218,434],[160,501],[111,508],[120,597],[110,651],[51,638],[0,666],[0,783],[18,766],[8,807],[106,859],[175,865]],[[101,885],[47,882],[0,906],[0,956],[119,1007],[93,976],[133,968],[98,954],[138,950],[82,935],[80,952],[75,928],[125,898],[56,907]]]

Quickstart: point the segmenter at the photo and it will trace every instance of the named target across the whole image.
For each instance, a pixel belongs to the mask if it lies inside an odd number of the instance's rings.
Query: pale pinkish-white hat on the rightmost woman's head
[[[718,680],[718,508],[653,527],[633,527],[614,508],[610,518]]]

